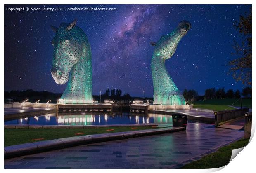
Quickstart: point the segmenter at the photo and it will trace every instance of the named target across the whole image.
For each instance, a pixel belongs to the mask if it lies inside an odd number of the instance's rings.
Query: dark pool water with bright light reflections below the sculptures
[[[104,117],[104,118],[102,118]],[[50,113],[41,116],[26,117],[5,124],[37,125],[103,125],[103,124],[148,124],[172,123],[172,116],[161,114],[138,114],[131,112],[109,113]]]

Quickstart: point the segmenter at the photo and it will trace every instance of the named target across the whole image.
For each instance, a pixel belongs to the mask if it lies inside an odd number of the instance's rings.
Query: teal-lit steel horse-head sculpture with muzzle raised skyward
[[[151,42],[152,46],[155,46],[151,60],[154,104],[186,104],[184,96],[180,93],[165,68],[165,60],[173,56],[180,39],[187,34],[190,28],[191,24],[188,21],[181,21],[172,33],[162,36],[158,42]]]

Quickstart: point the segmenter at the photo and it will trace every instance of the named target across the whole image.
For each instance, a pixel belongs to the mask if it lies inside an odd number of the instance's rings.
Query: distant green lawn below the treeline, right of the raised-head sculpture
[[[210,110],[232,110],[235,108],[229,107],[238,99],[225,98],[225,99],[209,99],[205,101],[195,101],[192,104],[193,108],[210,109]],[[233,106],[240,106],[240,101],[237,101]],[[251,99],[242,99],[242,106],[251,108]]]

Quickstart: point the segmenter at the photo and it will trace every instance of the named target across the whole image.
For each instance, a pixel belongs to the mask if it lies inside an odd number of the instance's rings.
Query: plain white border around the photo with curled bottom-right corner
[[[4,3],[5,4],[253,4],[253,2],[255,2],[255,0],[126,0],[126,1],[120,1],[120,0],[108,0],[108,1],[104,1],[104,0],[90,0],[90,1],[82,1],[82,0],[43,0],[43,1],[35,1],[35,0],[23,0],[23,1],[19,1],[19,0],[3,0],[1,1],[2,2],[2,9],[4,9]],[[254,7],[254,4],[252,5],[252,10],[254,11],[255,7]],[[253,15],[254,15],[254,12],[253,12]],[[255,16],[255,15],[254,15]],[[253,18],[253,21],[255,21],[254,19],[254,16],[252,17]],[[1,64],[1,69],[2,69],[2,73],[0,75],[0,79],[1,81],[4,81],[4,27],[3,27],[3,23],[4,23],[4,10],[2,10],[2,16],[1,16],[1,23],[2,23],[2,27],[1,27],[1,33],[2,33],[2,41],[1,41],[1,52],[2,52],[2,58],[0,58],[0,64]],[[254,23],[254,22],[253,22]],[[254,33],[254,32],[253,32]],[[253,38],[253,42],[254,42],[254,38]],[[254,44],[253,44],[254,45]],[[253,54],[254,54],[254,48],[253,48]],[[254,62],[254,61],[253,61]],[[253,63],[253,69],[255,69],[255,63]],[[253,70],[253,81],[254,81],[254,78],[255,78],[255,73],[254,73],[254,70]],[[1,105],[4,105],[4,85],[1,85]],[[256,97],[255,95],[255,91],[253,90],[252,92],[252,95],[253,95],[253,98]],[[253,105],[254,104],[254,99],[252,100],[252,103]],[[253,106],[254,107],[254,106]],[[2,109],[2,119],[3,119],[3,116],[4,115],[4,111]],[[254,115],[253,115],[254,116]],[[254,116],[255,117],[255,116]],[[2,121],[4,122],[4,121]],[[253,121],[253,133],[255,131],[255,122],[256,121]],[[4,131],[2,129],[2,133],[1,133],[1,139],[3,140],[4,139]],[[84,170],[84,169],[81,169],[81,170],[72,170],[73,171],[76,171],[76,172],[81,172],[81,173],[84,173],[85,171],[93,171],[93,172],[109,172],[109,173],[119,173],[120,171],[124,172],[124,173],[130,173],[131,171],[135,171],[135,172],[147,172],[147,173],[155,173],[156,171],[159,171],[159,172],[168,172],[170,173],[171,172],[193,172],[193,173],[201,173],[201,172],[213,172],[213,171],[218,171],[220,170],[219,172],[220,173],[224,173],[224,172],[232,172],[232,173],[246,173],[246,172],[252,172],[255,168],[254,166],[254,159],[255,159],[255,146],[256,146],[256,140],[255,139],[252,139],[250,141],[250,143],[242,150],[242,152],[240,152],[237,157],[235,157],[225,168],[221,169],[221,168],[216,168],[216,169],[162,169],[162,170],[154,170],[154,169],[145,169],[145,170],[139,170],[139,169],[135,169],[135,170],[129,170],[129,169],[123,169],[123,170],[118,170],[118,169],[101,169],[101,170]],[[4,147],[4,144],[3,142],[1,143],[1,147],[3,149]],[[3,153],[3,150],[2,150],[2,161],[1,161],[1,166],[2,168],[4,168],[4,153]],[[27,173],[27,172],[34,172],[34,171],[37,171],[37,172],[42,172],[45,171],[43,169],[41,170],[10,170],[10,169],[5,169],[4,170],[5,172],[14,172],[14,171],[18,171],[19,173]],[[49,170],[50,171],[50,170]],[[56,170],[56,171],[60,171],[60,170]],[[67,173],[67,172],[70,172],[70,170],[61,170],[62,172],[64,173]]]

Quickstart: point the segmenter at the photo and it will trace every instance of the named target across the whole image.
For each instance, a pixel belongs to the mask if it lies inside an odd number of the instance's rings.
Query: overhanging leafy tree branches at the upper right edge
[[[244,16],[241,15],[240,21],[234,23],[242,41],[234,41],[235,52],[232,54],[238,58],[228,63],[232,77],[245,85],[251,85],[251,23],[251,11]]]

